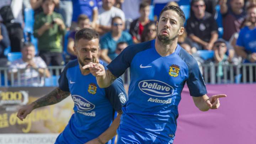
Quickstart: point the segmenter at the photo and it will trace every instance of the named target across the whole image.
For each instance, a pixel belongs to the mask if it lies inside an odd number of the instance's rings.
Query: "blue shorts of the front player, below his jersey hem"
[[[172,144],[155,135],[119,126],[117,144]]]

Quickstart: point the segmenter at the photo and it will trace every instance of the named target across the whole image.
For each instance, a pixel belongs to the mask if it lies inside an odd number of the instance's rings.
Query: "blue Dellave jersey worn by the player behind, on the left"
[[[102,89],[91,73],[81,74],[77,59],[64,68],[59,88],[69,91],[75,103],[74,114],[62,134],[66,143],[79,144],[97,138],[110,126],[114,111],[120,111],[127,99],[122,79]],[[57,139],[57,143],[62,141]]]

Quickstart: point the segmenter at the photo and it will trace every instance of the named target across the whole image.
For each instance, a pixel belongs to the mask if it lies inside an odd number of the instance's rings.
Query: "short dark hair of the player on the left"
[[[95,30],[92,30],[91,28],[83,28],[77,31],[75,34],[75,42],[78,42],[79,39],[91,40],[95,38],[99,39],[100,36]]]

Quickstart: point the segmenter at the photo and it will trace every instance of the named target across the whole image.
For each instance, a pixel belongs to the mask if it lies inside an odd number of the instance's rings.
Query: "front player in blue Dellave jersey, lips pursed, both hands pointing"
[[[155,40],[128,46],[108,66],[87,64],[100,87],[109,86],[130,67],[129,100],[117,130],[118,144],[171,144],[177,128],[177,106],[187,82],[201,111],[217,109],[219,98],[208,97],[196,60],[177,44],[185,16],[177,6],[160,13]]]

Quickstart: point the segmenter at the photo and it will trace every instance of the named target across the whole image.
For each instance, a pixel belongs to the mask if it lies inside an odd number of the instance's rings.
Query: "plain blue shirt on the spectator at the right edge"
[[[239,33],[236,44],[240,47],[244,47],[247,54],[256,53],[256,28],[250,30],[249,27],[244,27]],[[245,63],[250,63],[249,60],[245,60]]]

